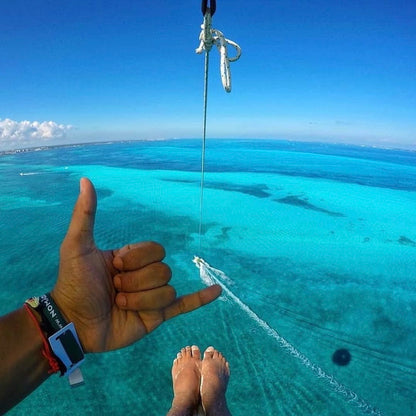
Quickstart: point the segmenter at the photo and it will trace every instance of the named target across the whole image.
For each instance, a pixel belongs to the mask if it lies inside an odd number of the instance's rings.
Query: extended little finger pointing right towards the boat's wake
[[[213,285],[199,290],[198,292],[175,299],[175,301],[164,311],[165,321],[182,313],[191,312],[212,302],[217,299],[217,297],[221,294],[221,291],[222,289],[220,285]]]

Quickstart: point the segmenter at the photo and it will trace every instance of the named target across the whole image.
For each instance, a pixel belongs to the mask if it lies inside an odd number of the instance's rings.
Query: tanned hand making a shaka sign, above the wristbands
[[[59,275],[51,296],[73,322],[85,352],[122,348],[164,321],[216,299],[218,285],[180,298],[168,285],[165,251],[153,242],[99,250],[93,229],[97,197],[81,179],[80,194],[61,245]]]

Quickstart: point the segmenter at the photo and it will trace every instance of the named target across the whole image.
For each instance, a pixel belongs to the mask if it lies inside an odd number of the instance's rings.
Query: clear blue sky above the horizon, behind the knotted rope
[[[210,53],[207,136],[416,148],[415,22],[408,0],[217,0],[242,56],[227,94]],[[0,149],[200,137],[201,23],[199,0],[3,1]]]

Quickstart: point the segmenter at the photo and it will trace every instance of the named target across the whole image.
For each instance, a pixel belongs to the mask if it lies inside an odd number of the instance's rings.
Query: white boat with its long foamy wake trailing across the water
[[[348,387],[338,382],[334,376],[327,374],[322,368],[314,364],[309,360],[306,355],[298,351],[289,341],[283,338],[274,328],[272,328],[266,321],[263,321],[253,310],[250,309],[244,302],[240,300],[234,293],[223,283],[224,280],[230,280],[228,276],[221,270],[211,267],[205,260],[200,257],[194,257],[193,262],[199,268],[199,273],[202,281],[207,285],[219,284],[225,294],[232,299],[251,319],[253,319],[270,337],[274,338],[281,348],[289,352],[290,355],[297,358],[301,363],[312,370],[312,372],[318,377],[323,378],[329,383],[329,385],[335,390],[335,392],[341,394],[348,402],[358,406],[365,414],[381,416],[380,410],[368,404],[361,399],[357,393],[353,392]]]

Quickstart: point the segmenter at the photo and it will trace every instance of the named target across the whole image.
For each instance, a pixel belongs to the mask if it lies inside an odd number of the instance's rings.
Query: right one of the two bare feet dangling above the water
[[[225,399],[230,367],[224,356],[213,347],[204,353],[201,366],[201,401],[207,416],[231,416]]]

